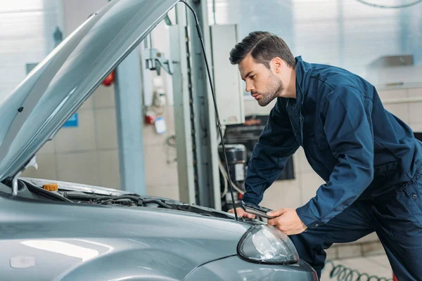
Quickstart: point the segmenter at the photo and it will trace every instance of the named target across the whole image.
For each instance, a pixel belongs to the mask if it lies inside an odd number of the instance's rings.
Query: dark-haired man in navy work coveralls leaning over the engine
[[[422,143],[409,126],[385,110],[368,81],[294,58],[269,32],[250,33],[230,61],[261,106],[276,99],[252,152],[243,201],[259,204],[302,146],[326,183],[304,206],[272,211],[268,223],[290,235],[319,276],[324,249],[375,231],[398,280],[422,280]]]

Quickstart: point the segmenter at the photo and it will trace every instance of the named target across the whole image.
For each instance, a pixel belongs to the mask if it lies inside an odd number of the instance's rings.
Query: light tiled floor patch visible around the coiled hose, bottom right
[[[371,256],[364,256],[358,258],[350,258],[350,259],[336,259],[333,260],[335,266],[342,265],[351,270],[357,270],[359,273],[368,273],[369,276],[376,275],[377,277],[384,277],[387,278],[386,280],[392,280],[392,270],[390,263],[388,262],[388,258],[385,254],[378,254],[378,255],[371,255]],[[340,269],[340,267],[339,267]],[[326,280],[345,280],[344,277],[335,276],[330,277],[330,273],[333,270],[332,263],[326,263],[326,267],[321,276],[321,281]],[[347,271],[347,273],[349,273]],[[357,273],[354,273],[354,277],[351,279],[352,281],[358,280]],[[349,279],[347,279],[349,280]],[[362,279],[361,279],[362,280]],[[363,280],[369,280],[369,278],[364,277]],[[372,278],[370,280],[376,281],[378,279]],[[385,279],[382,279],[385,280]]]

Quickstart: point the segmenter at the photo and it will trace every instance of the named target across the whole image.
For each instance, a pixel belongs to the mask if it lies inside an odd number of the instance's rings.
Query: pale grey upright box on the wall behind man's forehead
[[[222,125],[245,123],[243,81],[237,65],[231,65],[231,48],[238,43],[237,25],[210,26],[215,96]]]

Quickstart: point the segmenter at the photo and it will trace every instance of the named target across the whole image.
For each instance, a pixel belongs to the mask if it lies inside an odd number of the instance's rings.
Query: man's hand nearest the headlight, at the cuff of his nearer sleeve
[[[300,220],[295,209],[279,209],[276,211],[269,211],[269,216],[276,216],[276,218],[269,219],[270,226],[276,226],[279,230],[286,233],[286,235],[295,235],[304,232],[307,226]]]

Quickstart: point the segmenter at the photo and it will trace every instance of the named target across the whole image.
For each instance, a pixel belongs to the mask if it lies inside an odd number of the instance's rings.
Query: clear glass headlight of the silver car
[[[286,264],[299,260],[290,238],[274,226],[252,226],[238,244],[238,254],[257,263]]]

